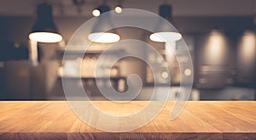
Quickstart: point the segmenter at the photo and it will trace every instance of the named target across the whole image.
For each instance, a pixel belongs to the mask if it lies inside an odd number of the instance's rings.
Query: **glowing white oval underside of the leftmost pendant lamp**
[[[29,39],[36,42],[61,42],[62,36],[52,32],[33,32]]]

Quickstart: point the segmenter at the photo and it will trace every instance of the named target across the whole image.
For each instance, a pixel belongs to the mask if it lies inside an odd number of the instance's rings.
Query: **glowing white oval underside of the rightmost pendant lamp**
[[[150,40],[154,42],[175,42],[182,38],[182,35],[178,32],[156,32],[149,36]]]

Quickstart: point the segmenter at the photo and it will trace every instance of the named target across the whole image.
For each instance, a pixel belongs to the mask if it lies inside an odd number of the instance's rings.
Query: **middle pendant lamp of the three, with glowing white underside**
[[[102,5],[98,8],[101,14],[96,18],[96,25],[93,27],[88,39],[91,42],[102,42],[102,43],[110,43],[110,42],[118,42],[120,40],[120,36],[116,33],[113,27],[113,23],[110,20],[110,15],[108,11],[110,8],[107,5]],[[111,30],[108,30],[111,29]]]

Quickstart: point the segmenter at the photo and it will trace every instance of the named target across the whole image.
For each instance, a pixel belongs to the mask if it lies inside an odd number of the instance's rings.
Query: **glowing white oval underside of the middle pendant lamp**
[[[95,32],[88,36],[91,42],[118,42],[120,36],[110,32]]]

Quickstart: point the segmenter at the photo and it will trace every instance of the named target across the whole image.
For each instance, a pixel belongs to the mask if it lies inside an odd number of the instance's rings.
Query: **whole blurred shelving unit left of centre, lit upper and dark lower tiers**
[[[58,51],[58,53],[61,56],[60,58],[62,58],[64,52]],[[112,65],[116,54],[119,53],[125,53],[125,50],[117,49],[104,53],[101,50],[87,51],[86,53],[68,50],[65,52],[65,59],[61,61],[58,79],[74,81],[74,87],[83,87],[85,92],[92,98],[102,96],[98,87],[113,87],[119,92],[124,92],[127,88],[126,77],[122,76],[120,71],[123,60],[121,59]],[[83,83],[78,82],[79,78],[81,78]],[[111,82],[110,87],[108,85],[108,78]]]

